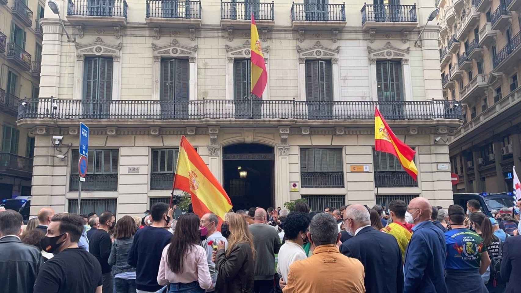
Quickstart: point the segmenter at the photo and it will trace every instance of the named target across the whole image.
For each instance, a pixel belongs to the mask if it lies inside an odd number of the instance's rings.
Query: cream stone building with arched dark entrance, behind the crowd
[[[71,42],[46,8],[40,96],[18,120],[36,136],[31,213],[76,210],[80,121],[90,126],[83,212],[168,201],[181,135],[235,209],[420,194],[448,206],[449,148],[433,141],[461,125],[461,109],[442,97],[435,22],[414,45],[435,1],[384,2],[56,1]],[[262,99],[245,98],[251,11],[269,78]],[[416,149],[418,182],[374,154],[376,105]]]

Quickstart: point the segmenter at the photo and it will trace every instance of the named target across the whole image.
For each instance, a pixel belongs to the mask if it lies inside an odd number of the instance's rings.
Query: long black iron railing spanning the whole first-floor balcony
[[[455,101],[291,100],[77,100],[25,99],[19,119],[374,119],[375,106],[387,119],[462,119]]]

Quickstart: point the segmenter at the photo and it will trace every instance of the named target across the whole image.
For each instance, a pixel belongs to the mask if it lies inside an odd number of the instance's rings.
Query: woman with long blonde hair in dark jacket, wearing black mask
[[[217,244],[214,254],[219,272],[216,288],[219,292],[253,292],[255,249],[246,220],[240,214],[227,213],[221,233],[228,239],[228,249],[225,250],[224,241]]]

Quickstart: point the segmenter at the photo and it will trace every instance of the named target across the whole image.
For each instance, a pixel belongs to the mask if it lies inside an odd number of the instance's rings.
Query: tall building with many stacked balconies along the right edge
[[[521,174],[521,1],[438,2],[443,95],[464,106],[449,146],[453,190],[511,192],[512,167]]]

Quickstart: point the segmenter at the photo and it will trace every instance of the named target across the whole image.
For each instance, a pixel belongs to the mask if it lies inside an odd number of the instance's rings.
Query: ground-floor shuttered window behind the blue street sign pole
[[[119,167],[119,149],[89,149],[87,174],[117,174]],[[71,175],[78,174],[77,149],[72,150]]]

